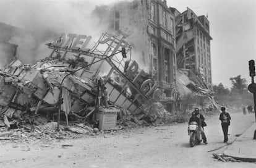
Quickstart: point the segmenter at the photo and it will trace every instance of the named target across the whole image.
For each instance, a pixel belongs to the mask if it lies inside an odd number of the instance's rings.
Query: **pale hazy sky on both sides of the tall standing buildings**
[[[73,33],[80,33],[86,29],[87,32],[83,34],[92,35],[93,32],[96,36],[101,30],[91,26],[92,20],[88,22],[82,20],[90,15],[96,5],[111,4],[116,1],[122,0],[80,0],[79,6],[65,3],[78,2],[78,0],[0,0],[0,22],[33,29],[38,31],[38,34],[45,33],[45,30],[50,28],[68,33],[70,30]],[[61,3],[56,6],[54,2]],[[213,38],[211,40],[213,85],[223,83],[230,88],[229,78],[237,75],[245,78],[247,84],[250,83],[248,61],[256,58],[254,55],[255,0],[167,0],[167,4],[175,7],[179,12],[184,12],[189,7],[198,16],[208,15],[210,35]],[[35,43],[31,37],[25,40]],[[18,41],[22,42],[19,46],[21,50],[22,45],[28,44],[23,40]],[[14,39],[14,42],[17,42],[17,39]]]

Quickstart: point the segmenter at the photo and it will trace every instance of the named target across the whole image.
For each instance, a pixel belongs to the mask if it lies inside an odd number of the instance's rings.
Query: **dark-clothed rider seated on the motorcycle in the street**
[[[199,113],[199,109],[195,108],[195,111],[192,112],[192,117],[189,119],[189,123],[195,121],[198,124],[198,128],[201,130],[201,135],[203,138],[203,143],[207,144],[207,137],[205,136],[205,132],[203,127],[206,126],[205,124],[205,117],[203,117],[202,114]]]

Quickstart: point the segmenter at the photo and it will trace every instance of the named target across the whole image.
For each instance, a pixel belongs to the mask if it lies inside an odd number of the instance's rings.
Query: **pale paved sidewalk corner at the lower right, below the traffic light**
[[[249,129],[239,136],[232,145],[224,151],[224,156],[231,156],[245,162],[256,162],[256,140],[254,140],[253,124]]]

